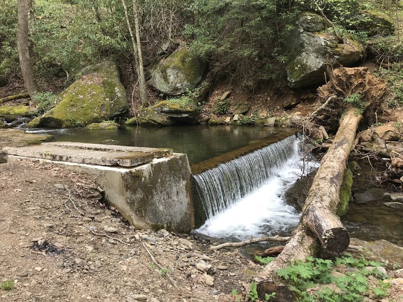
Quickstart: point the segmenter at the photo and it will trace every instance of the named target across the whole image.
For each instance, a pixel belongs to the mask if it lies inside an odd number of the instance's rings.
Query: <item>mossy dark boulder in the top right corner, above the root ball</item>
[[[373,10],[365,10],[353,16],[351,24],[351,29],[366,32],[370,37],[394,33],[393,21],[387,15]]]

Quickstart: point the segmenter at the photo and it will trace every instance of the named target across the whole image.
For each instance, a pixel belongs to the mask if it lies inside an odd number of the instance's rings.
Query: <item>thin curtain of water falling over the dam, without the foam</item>
[[[225,211],[276,176],[290,159],[297,157],[299,141],[298,135],[291,135],[193,175],[197,199],[203,204],[206,218]]]

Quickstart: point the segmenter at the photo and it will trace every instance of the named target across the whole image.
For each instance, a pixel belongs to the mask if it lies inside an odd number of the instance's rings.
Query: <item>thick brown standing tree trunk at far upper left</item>
[[[20,57],[21,71],[25,82],[25,87],[32,98],[35,92],[39,90],[38,84],[34,77],[31,58],[29,56],[29,1],[18,0],[18,36],[17,46],[18,55]]]

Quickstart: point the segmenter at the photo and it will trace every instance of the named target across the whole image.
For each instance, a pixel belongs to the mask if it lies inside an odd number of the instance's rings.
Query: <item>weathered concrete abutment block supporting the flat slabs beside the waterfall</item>
[[[57,144],[76,152],[102,152],[94,150],[101,145],[79,143],[43,144],[42,147],[56,147]],[[72,145],[74,144],[74,145]],[[74,149],[76,147],[76,149]],[[125,155],[134,147],[106,145],[104,150],[118,150]],[[137,148],[137,147],[136,147]],[[148,149],[150,152],[146,152]],[[166,229],[171,232],[188,233],[194,225],[193,204],[190,194],[190,167],[185,154],[173,153],[170,149],[140,148],[143,155],[151,154],[153,159],[135,167],[101,166],[52,160],[51,163],[83,173],[96,180],[105,191],[106,202],[114,206],[132,225],[142,229]],[[139,151],[139,148],[137,148]],[[165,157],[154,158],[167,154]],[[138,152],[139,153],[139,152]],[[113,153],[115,154],[115,153]],[[25,157],[9,155],[8,162]],[[44,161],[43,159],[29,158]]]

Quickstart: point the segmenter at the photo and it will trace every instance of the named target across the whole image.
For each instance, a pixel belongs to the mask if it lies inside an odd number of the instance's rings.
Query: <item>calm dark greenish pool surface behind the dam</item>
[[[115,144],[139,147],[171,148],[186,153],[190,164],[208,160],[267,137],[293,133],[285,128],[232,125],[181,125],[169,127],[121,127],[116,130],[88,130],[84,128],[32,130],[31,133],[49,133],[54,141],[100,143],[106,139]]]

